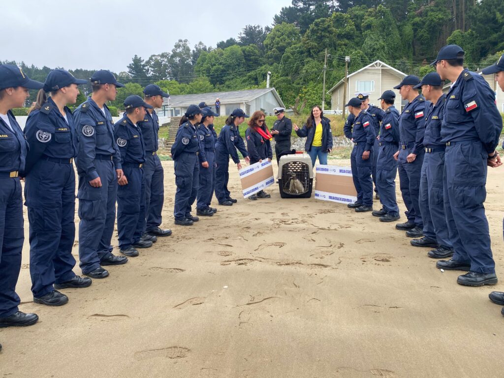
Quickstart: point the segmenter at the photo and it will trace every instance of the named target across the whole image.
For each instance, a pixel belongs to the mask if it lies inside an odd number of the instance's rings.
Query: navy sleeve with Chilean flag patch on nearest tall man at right
[[[474,127],[487,153],[495,151],[502,132],[502,117],[495,105],[495,94],[490,86],[476,79],[466,81],[462,93],[466,112],[471,114]]]

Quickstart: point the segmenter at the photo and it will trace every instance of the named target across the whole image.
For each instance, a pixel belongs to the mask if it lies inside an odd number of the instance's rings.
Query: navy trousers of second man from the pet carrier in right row
[[[379,146],[379,156],[376,159],[375,185],[380,195],[380,202],[387,213],[393,216],[399,215],[396,199],[397,161],[394,159],[396,152],[397,145]]]

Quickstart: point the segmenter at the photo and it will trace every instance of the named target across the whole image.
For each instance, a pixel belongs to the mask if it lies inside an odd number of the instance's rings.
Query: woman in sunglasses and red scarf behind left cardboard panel
[[[265,122],[266,115],[258,110],[250,117],[248,121],[248,129],[245,131],[247,140],[247,152],[250,157],[250,164],[255,164],[264,159],[271,161],[273,158],[273,151],[271,150],[270,141],[273,137],[268,130]],[[271,196],[264,191],[260,191],[255,195],[249,197],[250,200],[257,200],[258,198],[270,198]]]

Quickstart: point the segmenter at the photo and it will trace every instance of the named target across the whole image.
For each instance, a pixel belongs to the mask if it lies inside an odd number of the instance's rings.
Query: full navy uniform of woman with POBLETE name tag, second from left
[[[77,130],[72,111],[67,119],[49,97],[28,116],[24,133],[30,145],[26,157],[25,199],[30,222],[30,275],[34,297],[70,281],[75,259],[75,173]]]

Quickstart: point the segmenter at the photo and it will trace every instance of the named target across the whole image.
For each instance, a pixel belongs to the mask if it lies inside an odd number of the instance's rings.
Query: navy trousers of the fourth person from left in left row
[[[123,164],[122,170],[128,184],[117,187],[117,233],[119,248],[128,249],[145,230],[145,176],[142,168]]]

